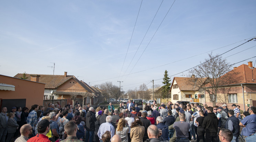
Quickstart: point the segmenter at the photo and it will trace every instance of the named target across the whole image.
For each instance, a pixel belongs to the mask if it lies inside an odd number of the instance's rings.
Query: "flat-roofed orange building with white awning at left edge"
[[[0,74],[0,108],[27,107],[43,105],[44,83],[32,79],[24,80]]]

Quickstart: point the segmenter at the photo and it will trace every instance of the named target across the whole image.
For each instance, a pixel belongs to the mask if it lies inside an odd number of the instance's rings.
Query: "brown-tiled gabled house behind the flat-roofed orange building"
[[[38,82],[45,84],[44,99],[69,99],[70,95],[77,95],[76,98],[81,98],[82,95],[88,92],[88,97],[85,98],[85,103],[94,104],[98,102],[97,92],[87,83],[79,81],[74,75],[50,75],[50,74],[27,74],[34,76]],[[14,77],[22,77],[22,73],[18,73]],[[28,80],[31,80],[28,78]],[[71,102],[70,102],[71,103]],[[82,102],[80,102],[82,104]],[[72,103],[71,103],[72,104]]]

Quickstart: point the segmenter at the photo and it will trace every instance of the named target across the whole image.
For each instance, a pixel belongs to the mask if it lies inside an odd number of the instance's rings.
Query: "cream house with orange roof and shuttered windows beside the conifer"
[[[189,101],[189,102],[205,102],[205,93],[204,91],[199,90],[199,85],[195,85],[193,80],[197,80],[194,75],[191,78],[184,77],[174,77],[171,85],[171,98],[172,102],[177,101]],[[202,79],[203,82],[206,81],[206,78]]]

